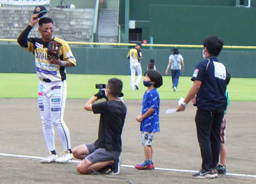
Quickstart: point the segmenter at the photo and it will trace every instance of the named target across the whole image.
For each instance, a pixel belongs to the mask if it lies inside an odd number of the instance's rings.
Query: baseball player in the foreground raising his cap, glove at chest
[[[38,8],[38,7],[37,7]],[[38,14],[33,14],[27,28],[19,35],[17,41],[25,50],[32,52],[35,57],[38,84],[38,106],[41,117],[42,132],[45,137],[48,156],[40,163],[65,163],[73,159],[69,129],[63,121],[63,113],[67,96],[65,67],[76,65],[69,44],[62,39],[53,37],[53,20],[43,17],[38,20]],[[38,22],[41,38],[28,37],[29,32]],[[48,53],[51,41],[58,42],[58,48],[52,48]],[[54,129],[56,128],[62,145],[63,154],[58,157],[54,144]]]

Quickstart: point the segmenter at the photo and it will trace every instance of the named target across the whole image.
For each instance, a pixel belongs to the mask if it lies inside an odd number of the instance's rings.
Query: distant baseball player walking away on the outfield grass
[[[127,55],[127,58],[130,59],[130,70],[131,70],[131,86],[132,90],[139,89],[139,83],[142,77],[140,59],[142,59],[141,53],[141,43],[137,42],[136,47],[131,49]],[[137,79],[135,82],[135,72],[137,72]]]

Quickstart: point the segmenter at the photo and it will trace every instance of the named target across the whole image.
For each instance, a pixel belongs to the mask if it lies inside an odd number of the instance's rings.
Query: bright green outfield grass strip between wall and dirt
[[[98,89],[96,83],[106,83],[110,78],[123,81],[124,99],[142,100],[146,87],[141,80],[139,90],[132,91],[127,75],[67,75],[68,99],[89,99]],[[36,74],[0,73],[0,98],[37,98]],[[161,100],[185,98],[193,85],[190,77],[180,77],[178,92],[173,92],[170,76],[163,76],[163,86],[158,88]],[[227,86],[231,101],[256,101],[256,78],[231,78]]]

